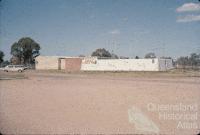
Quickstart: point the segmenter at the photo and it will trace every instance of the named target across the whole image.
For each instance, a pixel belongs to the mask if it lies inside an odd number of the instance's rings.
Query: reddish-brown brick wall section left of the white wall
[[[81,62],[82,62],[81,58],[66,58],[65,70],[66,71],[80,71]]]

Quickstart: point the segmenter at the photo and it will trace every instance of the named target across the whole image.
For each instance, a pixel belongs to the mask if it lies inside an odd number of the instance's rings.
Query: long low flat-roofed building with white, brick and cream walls
[[[166,71],[172,59],[98,59],[97,57],[38,56],[36,69],[66,71]]]

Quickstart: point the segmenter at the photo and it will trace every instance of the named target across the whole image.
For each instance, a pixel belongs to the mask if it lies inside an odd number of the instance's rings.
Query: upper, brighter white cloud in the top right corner
[[[176,9],[177,12],[191,12],[200,11],[200,4],[197,3],[185,3]]]

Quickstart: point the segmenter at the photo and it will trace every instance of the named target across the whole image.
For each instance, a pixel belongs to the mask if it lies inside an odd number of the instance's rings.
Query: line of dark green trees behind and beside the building
[[[10,61],[4,61],[4,52],[0,50],[0,67],[8,65],[8,64],[23,64],[23,65],[34,65],[35,58],[40,55],[40,44],[35,42],[30,37],[23,37],[19,39],[17,42],[14,42],[11,45],[10,53],[12,58]],[[100,59],[108,58],[108,59],[129,59],[126,56],[118,56],[113,52],[109,52],[105,48],[98,48],[92,52],[91,56],[96,56]],[[80,57],[84,57],[84,55],[80,55]],[[147,53],[144,58],[153,59],[157,58],[155,53],[150,52]],[[164,59],[171,59],[171,57],[160,57]],[[140,59],[139,56],[135,56],[135,59]],[[177,60],[174,61],[174,65],[177,68],[198,68],[200,69],[200,53],[192,53],[190,56],[181,56]]]

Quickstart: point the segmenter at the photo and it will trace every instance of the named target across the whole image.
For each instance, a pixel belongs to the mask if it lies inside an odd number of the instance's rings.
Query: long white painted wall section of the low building
[[[88,61],[87,59],[85,61]],[[93,59],[82,61],[83,71],[159,71],[158,59]]]

